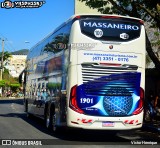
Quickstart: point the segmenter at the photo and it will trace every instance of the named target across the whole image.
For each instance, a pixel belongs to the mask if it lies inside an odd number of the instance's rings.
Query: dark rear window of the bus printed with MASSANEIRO
[[[141,24],[128,20],[81,19],[81,32],[88,37],[102,41],[126,42],[140,36]]]

